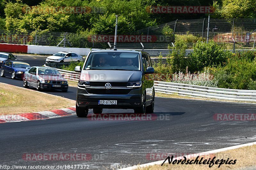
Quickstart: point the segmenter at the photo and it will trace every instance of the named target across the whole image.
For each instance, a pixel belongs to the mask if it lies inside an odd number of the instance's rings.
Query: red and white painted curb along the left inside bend
[[[69,116],[76,114],[76,106],[55,109],[50,111],[35,112],[35,113],[22,113],[18,115],[0,115],[0,123],[9,123],[9,122],[23,122],[31,120],[42,120],[42,119],[51,119],[62,116]]]

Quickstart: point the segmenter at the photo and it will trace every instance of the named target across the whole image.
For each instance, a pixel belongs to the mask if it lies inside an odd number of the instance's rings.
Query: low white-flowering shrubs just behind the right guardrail
[[[201,85],[207,87],[218,87],[218,80],[210,74],[209,70],[198,72],[197,74],[183,74],[182,72],[175,73],[172,76],[173,83],[182,83],[189,85]]]

